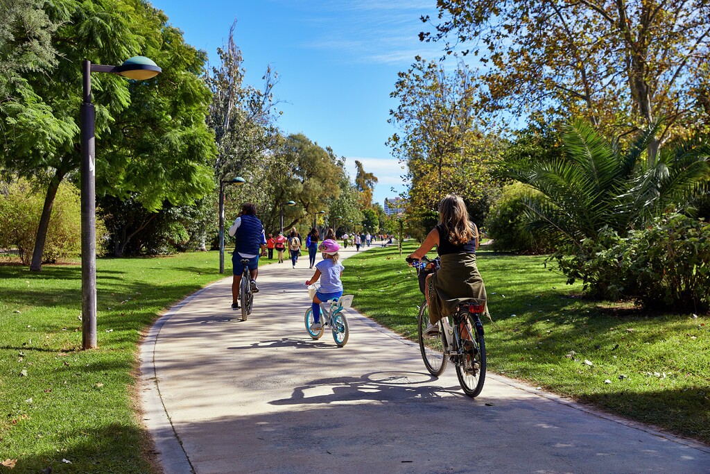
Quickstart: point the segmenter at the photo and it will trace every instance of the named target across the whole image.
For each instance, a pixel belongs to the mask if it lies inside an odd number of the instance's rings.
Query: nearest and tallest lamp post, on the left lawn
[[[80,107],[81,207],[82,207],[82,349],[97,347],[96,335],[96,140],[95,112],[91,102],[91,73],[109,72],[144,80],[162,70],[152,60],[135,56],[120,66],[82,63],[83,100]]]

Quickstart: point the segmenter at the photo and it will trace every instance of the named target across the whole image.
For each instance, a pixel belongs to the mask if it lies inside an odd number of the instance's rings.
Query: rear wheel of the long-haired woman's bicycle
[[[476,324],[474,318],[468,314],[463,322],[464,330],[461,330],[461,323],[454,329],[459,333],[461,344],[464,346],[463,354],[456,365],[456,375],[459,377],[461,389],[473,398],[481,393],[486,380],[486,341],[480,321]],[[468,337],[469,333],[473,339]]]

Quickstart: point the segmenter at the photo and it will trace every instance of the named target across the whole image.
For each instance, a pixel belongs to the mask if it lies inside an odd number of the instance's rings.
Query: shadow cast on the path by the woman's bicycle
[[[378,374],[392,374],[376,377]],[[370,372],[361,377],[329,377],[295,387],[289,398],[269,404],[288,406],[337,402],[408,402],[445,397],[466,398],[458,385],[431,384],[440,379],[423,372]],[[327,393],[324,393],[327,392]]]

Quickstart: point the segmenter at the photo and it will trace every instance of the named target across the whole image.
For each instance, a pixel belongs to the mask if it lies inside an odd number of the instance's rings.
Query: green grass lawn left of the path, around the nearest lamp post
[[[218,252],[98,259],[99,348],[82,351],[80,266],[0,266],[0,463],[17,460],[0,472],[152,472],[136,406],[140,335],[220,277]]]

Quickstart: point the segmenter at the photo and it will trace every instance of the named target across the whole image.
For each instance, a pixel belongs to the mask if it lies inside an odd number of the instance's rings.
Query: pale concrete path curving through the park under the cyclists
[[[430,377],[417,345],[354,310],[344,348],[311,340],[307,263],[261,267],[249,321],[230,276],[153,326],[143,407],[165,473],[710,472],[708,446],[490,372],[470,399],[453,367]]]

